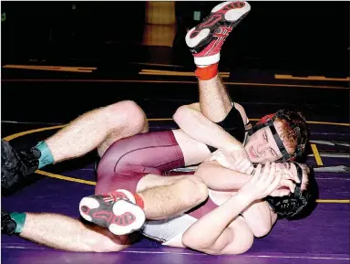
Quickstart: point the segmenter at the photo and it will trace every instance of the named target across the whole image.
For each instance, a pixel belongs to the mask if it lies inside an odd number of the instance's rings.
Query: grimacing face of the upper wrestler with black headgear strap
[[[282,123],[280,121],[273,122],[276,132],[280,135],[281,139],[283,130]],[[292,153],[293,150],[288,148],[288,144],[283,141],[283,144],[288,153]],[[269,127],[264,127],[257,132],[254,132],[247,140],[244,146],[246,152],[249,155],[249,159],[252,163],[265,164],[266,162],[275,162],[282,158],[277,143],[273,138],[273,132]]]

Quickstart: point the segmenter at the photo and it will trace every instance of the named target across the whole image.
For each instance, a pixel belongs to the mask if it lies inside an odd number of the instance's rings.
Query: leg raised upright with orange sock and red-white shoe
[[[211,121],[222,121],[232,109],[229,94],[217,74],[218,63],[225,38],[250,10],[251,6],[246,2],[216,5],[211,14],[191,28],[185,37],[197,65],[201,112]],[[214,18],[215,24],[212,23]]]

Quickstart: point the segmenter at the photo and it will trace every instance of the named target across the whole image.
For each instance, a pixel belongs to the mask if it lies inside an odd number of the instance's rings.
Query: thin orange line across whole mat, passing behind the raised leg
[[[2,79],[2,82],[124,82],[124,83],[186,83],[197,84],[193,80],[151,80],[151,79]],[[231,82],[223,81],[225,85],[242,86],[269,86],[269,87],[297,87],[297,88],[318,88],[349,90],[348,87],[327,86],[327,85],[304,85],[304,84],[282,84],[282,83],[255,83],[255,82]]]

